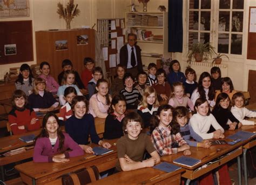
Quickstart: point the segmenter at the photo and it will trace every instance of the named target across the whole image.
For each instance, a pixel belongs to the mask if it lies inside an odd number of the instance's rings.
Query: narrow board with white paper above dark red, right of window
[[[247,59],[256,60],[256,6],[250,6]]]

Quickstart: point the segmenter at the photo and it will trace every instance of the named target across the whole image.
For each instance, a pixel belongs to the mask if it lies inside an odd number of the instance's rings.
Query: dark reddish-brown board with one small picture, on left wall
[[[0,65],[33,61],[32,20],[0,22]]]

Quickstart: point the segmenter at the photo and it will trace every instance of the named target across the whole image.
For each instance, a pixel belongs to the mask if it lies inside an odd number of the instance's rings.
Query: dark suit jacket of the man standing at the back
[[[135,49],[136,49],[138,71],[143,71],[142,55],[140,54],[140,51],[142,51],[142,50],[140,49],[139,46],[137,46],[137,45],[134,45],[134,46],[135,46]],[[127,63],[128,63],[128,50],[127,50],[127,45],[124,45],[120,49],[120,64],[127,67]]]

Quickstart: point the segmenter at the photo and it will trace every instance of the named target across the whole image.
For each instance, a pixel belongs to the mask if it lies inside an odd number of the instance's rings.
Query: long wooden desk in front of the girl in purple
[[[116,141],[116,139],[109,140],[111,144]],[[91,146],[94,147],[96,145],[92,143]],[[85,159],[85,157],[91,154],[84,154],[83,156],[71,157],[70,161],[65,163],[35,163],[30,161],[17,165],[15,168],[19,171],[22,181],[26,184],[44,184],[64,174],[93,165],[98,167],[99,172],[113,168],[117,162],[117,148],[112,145],[111,149],[113,149],[114,152],[95,156],[90,159]]]

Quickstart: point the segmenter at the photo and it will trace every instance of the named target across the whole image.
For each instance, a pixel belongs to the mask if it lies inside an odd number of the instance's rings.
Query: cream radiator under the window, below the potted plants
[[[191,61],[191,64],[190,64],[190,67],[196,71],[197,80],[199,79],[201,73],[203,73],[205,71],[211,74],[211,68],[214,66],[217,66],[220,68],[221,77],[227,77],[228,66],[226,64],[219,64],[219,65],[213,64],[212,65],[212,63],[197,62],[197,61]]]

